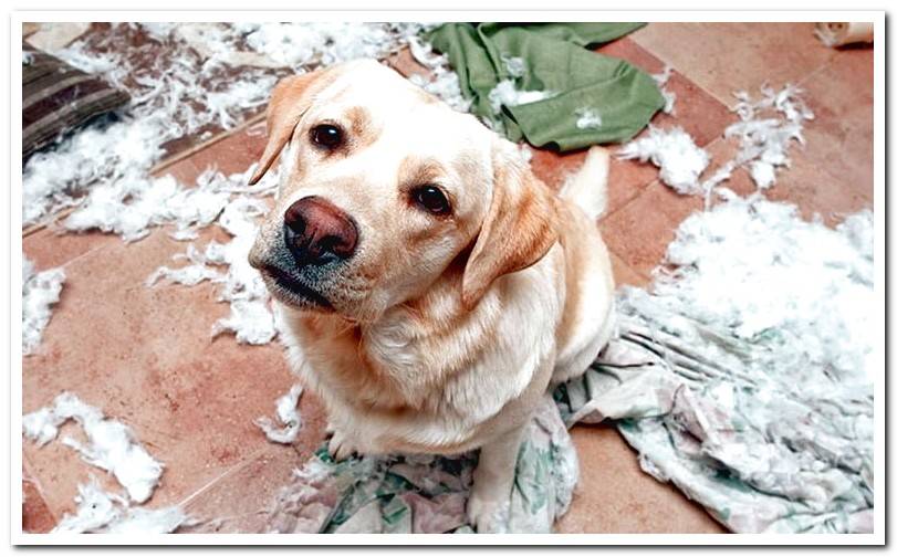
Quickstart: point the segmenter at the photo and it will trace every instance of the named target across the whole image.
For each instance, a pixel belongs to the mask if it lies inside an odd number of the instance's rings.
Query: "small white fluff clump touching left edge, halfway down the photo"
[[[33,263],[22,258],[22,354],[33,353],[41,344],[53,315],[50,306],[59,302],[64,282],[62,267],[35,272]]]

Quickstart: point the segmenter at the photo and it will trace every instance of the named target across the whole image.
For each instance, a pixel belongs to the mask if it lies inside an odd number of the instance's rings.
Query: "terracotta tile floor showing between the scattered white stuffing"
[[[599,51],[651,73],[671,65],[676,115],[658,115],[654,124],[682,126],[718,159],[734,148],[720,138],[733,119],[727,108],[732,91],[799,84],[817,119],[806,127],[806,148],[793,151],[792,169],[769,197],[796,203],[807,217],[820,213],[830,224],[872,207],[872,49],[827,49],[809,23],[656,23]],[[407,53],[393,63],[416,71]],[[210,165],[242,171],[263,144],[263,125],[249,125],[165,171],[188,182]],[[536,151],[533,168],[556,187],[582,159],[582,153]],[[701,207],[656,178],[650,166],[613,162],[609,211],[599,225],[619,284],[648,284],[678,223]],[[751,190],[744,176],[730,187]],[[184,250],[164,231],[126,245],[103,234],[44,230],[23,245],[39,269],[64,265],[69,276],[39,353],[23,364],[24,410],[63,389],[76,392],[128,423],[165,462],[150,506],[184,503],[196,516],[225,518],[206,529],[258,527],[257,512],[324,438],[322,408],[311,393],[302,398],[304,425],[295,446],[268,443],[252,424],[292,383],[281,349],[210,339],[211,324],[228,311],[211,286],[144,287],[154,269]],[[572,433],[582,477],[561,532],[722,532],[678,491],[644,474],[613,428],[575,427]],[[24,443],[23,527],[50,529],[74,508],[75,487],[86,474],[58,443]]]

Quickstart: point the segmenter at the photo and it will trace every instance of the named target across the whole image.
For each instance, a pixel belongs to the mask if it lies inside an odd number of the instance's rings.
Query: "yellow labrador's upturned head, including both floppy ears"
[[[268,133],[251,182],[278,156],[281,182],[249,259],[289,307],[372,322],[457,262],[470,308],[556,240],[515,146],[377,62],[283,80]]]

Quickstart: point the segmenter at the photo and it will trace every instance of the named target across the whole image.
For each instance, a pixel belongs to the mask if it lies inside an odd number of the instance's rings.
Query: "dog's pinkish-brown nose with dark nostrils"
[[[358,229],[345,211],[309,196],[283,213],[283,238],[298,264],[324,264],[355,253]]]

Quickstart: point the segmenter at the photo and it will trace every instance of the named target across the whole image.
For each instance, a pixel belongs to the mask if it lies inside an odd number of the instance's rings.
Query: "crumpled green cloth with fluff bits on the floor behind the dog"
[[[644,23],[447,23],[427,40],[447,54],[458,73],[471,112],[487,119],[508,139],[525,138],[560,150],[625,141],[642,130],[664,106],[657,84],[628,62],[586,50],[623,36]],[[520,57],[521,72],[508,70]],[[496,113],[489,93],[503,80],[518,91],[544,91],[553,96],[502,105]],[[588,111],[601,125],[577,127]]]

